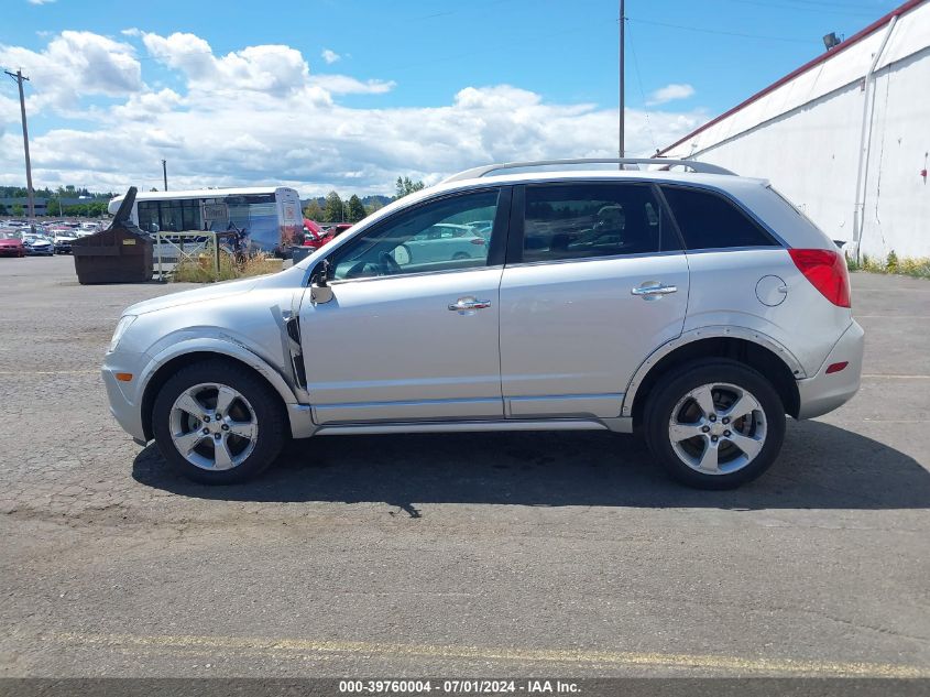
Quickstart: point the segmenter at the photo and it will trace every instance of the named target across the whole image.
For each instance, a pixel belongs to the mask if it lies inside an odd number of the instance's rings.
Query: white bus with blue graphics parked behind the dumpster
[[[110,202],[117,213],[123,197]],[[288,255],[303,230],[300,197],[285,186],[140,192],[132,221],[145,232],[239,231],[251,249]]]

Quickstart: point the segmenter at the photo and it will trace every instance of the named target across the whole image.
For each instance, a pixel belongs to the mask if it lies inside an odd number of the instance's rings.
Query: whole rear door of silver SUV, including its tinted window
[[[654,186],[514,189],[501,283],[501,381],[511,417],[620,416],[653,350],[681,334],[688,261]]]

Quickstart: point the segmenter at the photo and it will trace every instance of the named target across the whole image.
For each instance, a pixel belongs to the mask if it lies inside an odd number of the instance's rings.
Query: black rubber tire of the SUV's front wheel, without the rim
[[[172,438],[171,412],[175,400],[200,383],[219,383],[232,388],[248,400],[254,412],[258,423],[254,449],[231,469],[211,471],[189,462]],[[152,410],[152,426],[158,450],[176,471],[204,484],[239,483],[264,471],[289,437],[286,418],[278,394],[265,380],[244,366],[223,359],[205,360],[182,368],[162,385]]]

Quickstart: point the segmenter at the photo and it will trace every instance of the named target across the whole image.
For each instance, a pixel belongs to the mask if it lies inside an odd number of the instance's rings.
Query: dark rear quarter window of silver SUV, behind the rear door
[[[664,186],[688,249],[773,247],[778,243],[736,205],[708,192]]]

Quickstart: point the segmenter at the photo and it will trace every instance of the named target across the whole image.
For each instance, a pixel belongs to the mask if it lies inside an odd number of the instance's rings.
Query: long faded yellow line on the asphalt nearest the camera
[[[449,646],[433,644],[393,644],[363,641],[313,641],[309,639],[267,639],[249,636],[173,636],[136,634],[83,634],[65,632],[48,639],[81,645],[111,649],[188,649],[240,651],[255,654],[271,652],[343,653],[401,658],[471,658],[477,661],[544,662],[578,665],[654,666],[701,668],[735,673],[805,674],[856,677],[927,678],[930,667],[885,663],[842,663],[795,658],[763,658],[721,655],[633,653],[583,651],[576,649],[505,649],[488,646]]]

